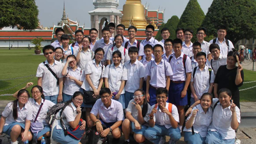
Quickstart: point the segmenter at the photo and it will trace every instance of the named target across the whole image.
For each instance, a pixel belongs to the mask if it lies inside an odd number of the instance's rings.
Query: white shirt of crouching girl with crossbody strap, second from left
[[[29,98],[28,103],[31,105],[32,113],[33,113],[33,118],[31,122],[35,121],[36,115],[39,111],[40,105],[35,101],[33,98]],[[43,104],[40,113],[38,114],[38,117],[36,118],[36,122],[44,123],[45,124],[45,117],[47,115],[47,111],[52,108],[55,104],[51,102],[51,100],[46,100],[42,99],[41,104]]]

